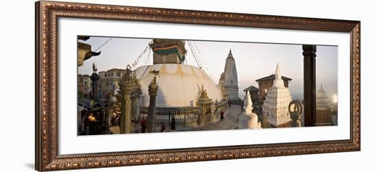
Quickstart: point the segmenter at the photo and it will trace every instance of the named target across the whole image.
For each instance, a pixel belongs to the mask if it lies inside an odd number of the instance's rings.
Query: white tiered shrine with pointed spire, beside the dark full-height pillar
[[[279,64],[276,66],[275,79],[272,87],[267,90],[267,97],[263,104],[263,123],[268,123],[273,127],[289,126],[291,121],[289,116],[289,102],[291,102],[291,91],[284,87],[284,82],[280,75]]]

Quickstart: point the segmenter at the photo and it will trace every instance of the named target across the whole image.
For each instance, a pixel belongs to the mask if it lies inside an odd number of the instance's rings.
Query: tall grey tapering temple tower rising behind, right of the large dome
[[[239,81],[237,77],[236,62],[232,55],[232,50],[229,51],[228,58],[224,69],[224,88],[228,94],[228,99],[239,99]]]

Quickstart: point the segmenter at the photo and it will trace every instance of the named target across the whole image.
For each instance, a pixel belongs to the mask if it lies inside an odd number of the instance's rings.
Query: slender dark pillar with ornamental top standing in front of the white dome
[[[156,117],[156,97],[158,86],[156,84],[156,76],[149,84],[149,107],[148,107],[148,119],[147,119],[147,131],[154,132],[154,121]]]

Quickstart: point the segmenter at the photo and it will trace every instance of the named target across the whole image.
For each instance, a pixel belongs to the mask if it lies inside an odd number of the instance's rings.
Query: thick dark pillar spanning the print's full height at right
[[[315,57],[316,45],[302,45],[304,56],[304,112],[305,127],[315,123]]]

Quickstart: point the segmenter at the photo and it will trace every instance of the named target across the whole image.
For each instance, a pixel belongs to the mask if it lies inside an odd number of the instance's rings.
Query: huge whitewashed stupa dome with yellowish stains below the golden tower
[[[219,88],[202,69],[188,64],[154,64],[135,69],[144,97],[141,106],[149,106],[148,86],[154,77],[149,72],[154,69],[160,71],[156,97],[156,106],[159,108],[196,106],[202,84],[210,99],[221,100]]]

